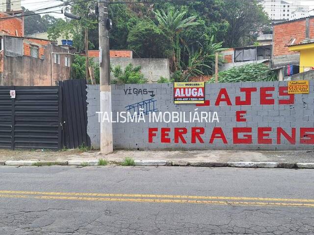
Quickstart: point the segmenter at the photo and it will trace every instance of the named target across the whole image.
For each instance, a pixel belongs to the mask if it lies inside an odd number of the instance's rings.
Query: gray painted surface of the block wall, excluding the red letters
[[[300,128],[314,128],[314,81],[310,81],[310,94],[295,94],[293,104],[279,105],[279,99],[287,99],[288,96],[279,95],[279,87],[287,87],[286,81],[275,82],[245,82],[245,83],[221,83],[206,84],[206,99],[210,100],[210,106],[196,107],[195,104],[175,105],[173,103],[173,84],[143,84],[143,85],[112,85],[112,110],[113,112],[126,111],[126,106],[152,99],[150,94],[134,94],[132,89],[147,89],[153,91],[153,97],[157,110],[160,112],[217,112],[219,123],[149,123],[148,117],[146,122],[140,123],[113,123],[113,142],[115,149],[253,149],[253,150],[293,150],[293,149],[314,149],[313,143],[300,143]],[[260,88],[274,87],[273,94],[274,105],[260,104]],[[124,89],[131,88],[131,94],[125,94]],[[221,91],[225,88],[231,99],[232,105],[221,102],[215,106],[215,100]],[[240,96],[241,100],[245,99],[244,92],[240,88],[257,88],[258,92],[252,93],[251,105],[235,105],[235,97]],[[88,134],[91,138],[92,145],[99,147],[100,123],[98,122],[99,111],[99,87],[88,85]],[[224,97],[224,96],[223,96]],[[152,106],[151,106],[152,107]],[[236,121],[236,111],[246,111],[244,118],[246,121]],[[156,112],[158,114],[158,112]],[[161,143],[160,128],[171,128],[171,143]],[[184,135],[187,143],[174,143],[174,128],[185,127],[188,133]],[[191,127],[204,127],[205,134],[202,135],[205,143],[191,143]],[[226,136],[228,144],[221,139],[215,139],[209,143],[213,128],[221,127]],[[252,128],[252,144],[234,144],[233,128],[249,127]],[[269,134],[272,144],[258,143],[258,127],[271,127]],[[277,143],[277,127],[283,128],[291,135],[292,128],[296,128],[296,144],[289,143],[286,138],[281,136],[281,144]],[[158,128],[154,142],[149,143],[149,128]],[[244,133],[245,134],[245,133]],[[314,135],[314,129],[308,130],[308,137]],[[243,138],[243,134],[239,135]],[[260,137],[261,139],[261,137]]]

